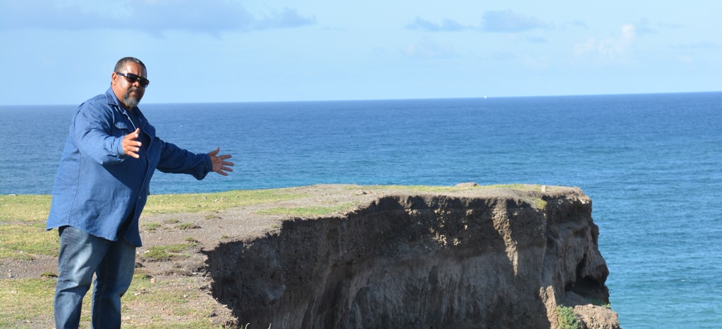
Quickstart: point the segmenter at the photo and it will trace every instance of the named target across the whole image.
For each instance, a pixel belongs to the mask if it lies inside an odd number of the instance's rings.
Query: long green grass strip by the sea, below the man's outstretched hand
[[[250,206],[256,203],[285,201],[307,195],[294,193],[290,188],[266,190],[230,190],[219,193],[159,194],[149,196],[143,214],[173,214],[179,212],[221,211]]]

